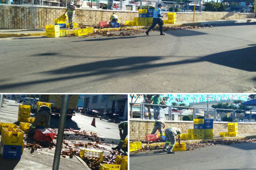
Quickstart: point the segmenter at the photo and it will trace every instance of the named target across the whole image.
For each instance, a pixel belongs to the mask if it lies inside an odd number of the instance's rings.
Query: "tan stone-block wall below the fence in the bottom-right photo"
[[[146,139],[154,128],[154,120],[130,119],[130,139]],[[194,129],[193,121],[165,121],[166,127],[180,128],[182,133],[188,133],[188,129]],[[219,136],[219,132],[228,132],[228,122],[214,122],[213,135]],[[165,128],[166,129],[166,128]],[[159,133],[159,132],[157,132]],[[256,123],[239,122],[239,134],[256,133]]]

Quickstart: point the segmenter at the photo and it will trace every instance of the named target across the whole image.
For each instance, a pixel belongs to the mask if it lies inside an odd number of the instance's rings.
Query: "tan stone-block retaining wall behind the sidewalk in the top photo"
[[[9,5],[0,4],[1,29],[35,29],[44,28],[47,24],[54,24],[65,12],[65,7],[39,6],[39,5]],[[116,12],[120,23],[138,17],[138,11],[97,10],[91,8],[78,8],[75,12],[74,22],[79,25],[94,25],[100,21],[109,21],[112,12]],[[163,12],[163,19],[167,20],[167,12]],[[241,19],[253,18],[254,14],[239,14],[229,12],[202,12],[195,14],[195,20]],[[192,21],[193,13],[177,13],[177,21]]]

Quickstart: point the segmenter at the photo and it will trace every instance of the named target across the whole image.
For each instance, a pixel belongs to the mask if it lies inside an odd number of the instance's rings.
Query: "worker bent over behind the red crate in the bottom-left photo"
[[[48,129],[50,126],[51,113],[52,113],[52,110],[50,107],[44,106],[44,105],[40,106],[38,108],[37,116],[35,116],[35,120],[34,120],[33,124],[30,126],[28,133],[32,134],[33,131],[35,130],[35,128],[37,127],[37,125],[39,124],[39,122],[43,118],[45,120],[44,129]]]

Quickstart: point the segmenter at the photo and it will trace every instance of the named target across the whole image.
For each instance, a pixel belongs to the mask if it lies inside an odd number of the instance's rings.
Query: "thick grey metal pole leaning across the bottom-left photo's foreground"
[[[59,169],[60,153],[61,153],[64,129],[65,129],[65,124],[66,124],[68,103],[69,103],[69,95],[63,95],[61,112],[60,112],[61,114],[60,114],[60,118],[59,118],[59,128],[58,128],[58,136],[57,136],[57,142],[56,142],[56,150],[55,150],[54,160],[53,160],[53,170]]]

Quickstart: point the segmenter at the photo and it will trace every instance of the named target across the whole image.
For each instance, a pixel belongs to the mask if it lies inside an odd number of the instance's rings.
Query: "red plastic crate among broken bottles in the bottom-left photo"
[[[41,140],[51,142],[54,136],[55,133],[49,129],[37,129],[33,138],[38,142]]]

